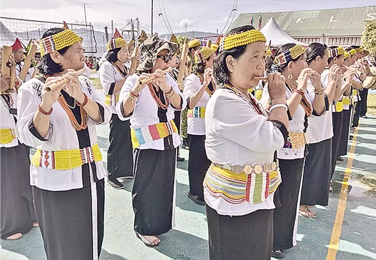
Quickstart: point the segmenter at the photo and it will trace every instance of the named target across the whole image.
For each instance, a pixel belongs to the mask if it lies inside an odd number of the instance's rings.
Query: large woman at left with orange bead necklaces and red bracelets
[[[77,76],[84,56],[76,33],[47,30],[41,56],[43,77],[21,86],[17,109],[20,140],[37,148],[30,184],[44,249],[49,260],[98,260],[106,170],[96,125],[109,122],[111,108],[88,78]]]

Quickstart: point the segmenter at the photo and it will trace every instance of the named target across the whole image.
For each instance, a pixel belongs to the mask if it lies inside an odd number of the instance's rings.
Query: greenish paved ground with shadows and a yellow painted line
[[[108,131],[108,126],[97,129],[103,158],[109,145]],[[300,217],[300,242],[286,252],[285,259],[376,259],[376,117],[361,119],[349,150],[349,159],[337,165],[329,206],[316,209],[317,219]],[[183,150],[182,156],[188,158],[188,151]],[[186,196],[187,161],[179,163],[177,169],[176,228],[161,236],[158,248],[147,248],[136,238],[132,228],[132,181],[127,180],[124,185],[123,190],[106,185],[101,260],[208,259],[205,208]],[[45,260],[39,229],[34,228],[18,241],[0,240],[0,259]]]

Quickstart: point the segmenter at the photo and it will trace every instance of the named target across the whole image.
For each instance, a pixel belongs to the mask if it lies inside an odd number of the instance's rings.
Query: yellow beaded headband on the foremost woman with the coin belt
[[[219,52],[230,50],[235,47],[245,46],[256,41],[266,43],[266,38],[259,30],[249,30],[246,32],[234,33],[224,36],[219,44]]]

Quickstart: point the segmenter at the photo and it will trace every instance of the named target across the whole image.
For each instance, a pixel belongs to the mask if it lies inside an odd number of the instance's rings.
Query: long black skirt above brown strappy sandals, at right
[[[327,206],[332,171],[332,138],[309,144],[307,149],[300,204]]]

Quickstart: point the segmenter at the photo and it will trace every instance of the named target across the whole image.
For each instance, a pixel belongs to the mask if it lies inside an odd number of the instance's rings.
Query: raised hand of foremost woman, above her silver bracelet
[[[272,103],[286,103],[285,77],[280,73],[268,75],[268,92]]]

